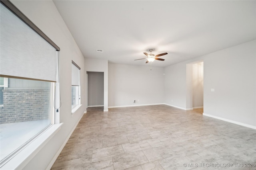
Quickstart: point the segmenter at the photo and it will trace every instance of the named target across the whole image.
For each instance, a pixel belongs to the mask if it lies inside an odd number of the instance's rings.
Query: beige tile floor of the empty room
[[[255,170],[256,130],[202,112],[166,105],[88,108],[51,169]]]

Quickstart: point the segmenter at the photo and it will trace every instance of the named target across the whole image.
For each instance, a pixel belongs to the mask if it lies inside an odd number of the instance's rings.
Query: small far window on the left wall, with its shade
[[[72,61],[71,109],[72,113],[80,105],[80,67]]]

